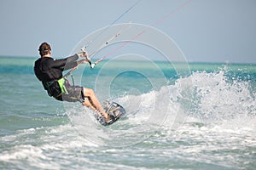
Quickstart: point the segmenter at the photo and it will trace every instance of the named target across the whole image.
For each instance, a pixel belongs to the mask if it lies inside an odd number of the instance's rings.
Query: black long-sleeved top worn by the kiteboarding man
[[[61,79],[62,71],[77,66],[79,55],[67,57],[66,59],[53,59],[50,57],[40,58],[35,61],[34,72],[41,82],[52,82]]]

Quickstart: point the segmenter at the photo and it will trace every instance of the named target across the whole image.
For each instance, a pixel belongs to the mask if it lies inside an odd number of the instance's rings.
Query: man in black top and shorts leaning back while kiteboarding
[[[104,116],[106,122],[110,121],[108,114],[102,109],[102,105],[92,89],[71,86],[62,75],[62,71],[90,62],[86,52],[74,54],[66,59],[53,59],[51,58],[51,48],[47,42],[43,42],[38,51],[41,58],[35,61],[34,72],[38,80],[43,83],[44,89],[47,90],[49,96],[61,101],[79,101],[82,105]],[[78,61],[79,57],[85,59]]]

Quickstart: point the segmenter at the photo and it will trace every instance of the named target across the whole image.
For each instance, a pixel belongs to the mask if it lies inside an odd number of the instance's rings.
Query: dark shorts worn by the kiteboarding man
[[[80,86],[72,86],[70,83],[66,80],[64,83],[65,88],[67,89],[67,94],[61,94],[58,97],[55,97],[55,99],[61,100],[61,101],[68,101],[68,102],[81,102],[84,103],[84,88]]]

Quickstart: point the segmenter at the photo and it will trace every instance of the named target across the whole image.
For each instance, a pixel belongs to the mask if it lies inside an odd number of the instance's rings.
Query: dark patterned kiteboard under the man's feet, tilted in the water
[[[113,124],[113,122],[116,122],[121,117],[125,116],[125,113],[126,113],[122,105],[119,105],[118,103],[115,103],[115,102],[110,102],[108,100],[104,101],[102,108],[104,111],[108,113],[108,116],[110,116],[110,120],[106,122],[104,119],[104,116],[98,116],[98,115],[96,115],[96,120],[104,126]]]

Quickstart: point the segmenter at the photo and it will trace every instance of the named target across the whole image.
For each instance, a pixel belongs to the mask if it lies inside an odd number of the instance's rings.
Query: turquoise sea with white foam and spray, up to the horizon
[[[256,167],[256,65],[190,63],[186,75],[163,61],[79,67],[76,84],[127,111],[103,127],[79,103],[50,98],[34,60],[0,58],[0,169]]]

